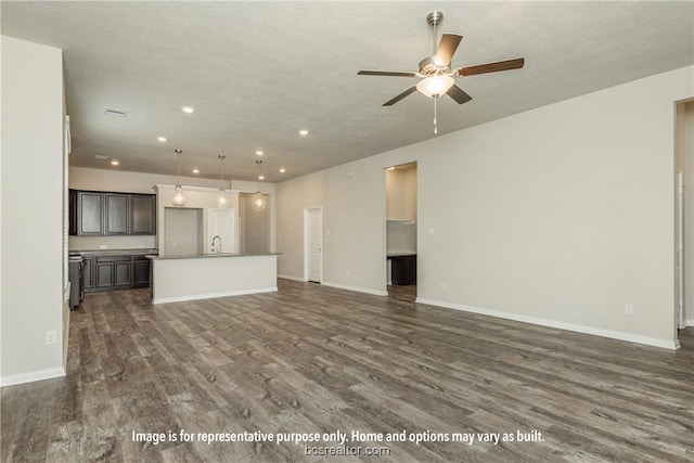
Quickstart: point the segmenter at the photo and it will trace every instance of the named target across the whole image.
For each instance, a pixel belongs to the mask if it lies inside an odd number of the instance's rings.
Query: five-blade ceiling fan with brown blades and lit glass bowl
[[[454,77],[474,76],[477,74],[497,73],[500,70],[518,69],[525,64],[525,59],[498,61],[494,63],[478,64],[475,66],[451,69],[451,60],[463,36],[457,34],[444,34],[441,41],[436,47],[436,27],[441,24],[444,13],[433,11],[426,15],[426,21],[433,27],[433,55],[420,62],[420,70],[416,73],[400,73],[389,70],[360,70],[360,76],[389,76],[389,77],[419,77],[417,85],[410,87],[399,95],[386,101],[384,106],[391,106],[416,90],[426,97],[434,99],[434,133],[436,133],[436,99],[448,94],[459,104],[467,103],[473,98],[455,85]]]

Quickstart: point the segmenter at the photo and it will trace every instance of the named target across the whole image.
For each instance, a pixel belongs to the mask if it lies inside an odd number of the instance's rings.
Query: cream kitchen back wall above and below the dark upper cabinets
[[[113,169],[89,169],[83,167],[69,168],[69,188],[75,190],[118,191],[126,193],[156,193],[156,184],[176,184],[176,176],[156,173],[129,172]],[[219,180],[202,179],[200,177],[181,177],[183,187],[203,187],[218,189]],[[232,180],[229,190],[255,193],[260,190],[268,194],[270,209],[270,227],[274,230],[274,183],[247,182]],[[167,200],[168,201],[168,200]],[[271,233],[271,249],[274,249],[274,233]],[[131,249],[137,247],[157,247],[155,236],[70,236],[70,249],[99,249],[102,246],[114,249]]]

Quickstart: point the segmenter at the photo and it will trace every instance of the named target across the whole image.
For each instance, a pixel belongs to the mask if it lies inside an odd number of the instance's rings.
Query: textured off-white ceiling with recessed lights
[[[430,55],[426,14],[463,35],[452,66],[524,56],[459,78],[439,136],[694,63],[694,2],[10,2],[2,34],[64,50],[70,165],[281,181],[434,137],[433,101],[401,77]],[[638,104],[638,102],[634,102]],[[195,107],[192,115],[180,107]],[[106,116],[126,110],[126,118]],[[298,129],[310,130],[300,137]],[[168,138],[166,143],[157,136]],[[279,168],[286,173],[279,173]]]

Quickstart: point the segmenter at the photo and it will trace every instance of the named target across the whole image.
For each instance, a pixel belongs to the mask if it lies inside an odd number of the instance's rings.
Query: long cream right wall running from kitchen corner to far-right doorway
[[[694,95],[693,77],[677,69],[280,183],[279,273],[303,275],[300,210],[322,204],[324,279],[384,291],[382,169],[416,160],[421,300],[673,347],[673,102]]]

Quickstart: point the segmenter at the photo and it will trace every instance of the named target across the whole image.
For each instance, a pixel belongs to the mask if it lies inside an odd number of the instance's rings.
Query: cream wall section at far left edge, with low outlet
[[[2,41],[2,385],[64,375],[62,51]],[[56,332],[46,345],[44,333]]]

